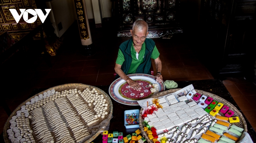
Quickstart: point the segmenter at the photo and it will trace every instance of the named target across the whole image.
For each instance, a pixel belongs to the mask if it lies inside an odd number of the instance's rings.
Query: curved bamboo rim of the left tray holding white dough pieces
[[[48,90],[52,90],[52,89],[61,89],[61,88],[65,88],[65,87],[73,87],[73,86],[80,86],[80,87],[85,87],[85,88],[95,88],[97,90],[100,90],[103,94],[106,95],[106,97],[108,98],[108,100],[110,101],[110,113],[108,115],[108,120],[110,121],[113,114],[113,104],[112,104],[112,101],[111,101],[111,98],[109,97],[109,95],[97,88],[97,87],[94,87],[94,86],[91,86],[91,85],[85,85],[85,84],[78,84],[78,83],[69,83],[69,84],[64,84],[64,85],[59,85],[59,86],[55,86],[55,87],[52,87],[52,88],[49,88],[49,89],[46,89],[40,93],[37,93],[35,95],[33,95],[32,97],[28,98],[26,101],[22,102],[13,112],[12,114],[9,116],[9,118],[7,119],[7,121],[5,122],[5,125],[4,125],[4,130],[3,130],[3,137],[4,137],[4,142],[5,143],[11,143],[11,140],[8,138],[8,134],[7,134],[7,128],[9,127],[9,120],[11,120],[11,118],[16,114],[16,112],[18,110],[20,110],[21,106],[23,105],[26,105],[26,102],[30,101],[30,99],[34,98],[35,96],[38,96],[39,94],[43,94],[44,92],[48,91]],[[100,133],[99,132],[96,132],[92,137],[90,137],[89,139],[87,139],[86,141],[84,141],[83,143],[90,143],[92,142]]]

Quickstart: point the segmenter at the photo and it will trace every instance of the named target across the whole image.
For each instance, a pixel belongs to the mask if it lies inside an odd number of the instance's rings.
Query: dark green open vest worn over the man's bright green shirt
[[[119,49],[122,51],[124,55],[125,61],[123,62],[121,69],[122,71],[127,74],[127,72],[130,69],[131,63],[132,63],[132,55],[131,55],[131,46],[133,44],[133,40],[127,40],[123,42]],[[155,42],[152,39],[146,38],[145,40],[145,55],[143,58],[143,63],[139,65],[139,67],[136,70],[136,73],[140,74],[150,74],[150,67],[151,67],[151,54],[153,52],[153,49],[155,47]],[[119,75],[117,74],[115,79],[119,78]]]

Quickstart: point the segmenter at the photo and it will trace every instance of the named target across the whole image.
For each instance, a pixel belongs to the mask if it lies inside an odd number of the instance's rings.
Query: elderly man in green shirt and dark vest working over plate
[[[149,34],[148,23],[144,20],[136,20],[132,25],[132,39],[123,42],[119,46],[118,56],[115,64],[115,72],[124,79],[132,89],[139,91],[139,83],[130,79],[128,74],[143,73],[150,74],[151,58],[156,62],[156,81],[162,82],[162,62],[159,52],[152,39],[146,38]],[[117,75],[116,78],[119,76]]]

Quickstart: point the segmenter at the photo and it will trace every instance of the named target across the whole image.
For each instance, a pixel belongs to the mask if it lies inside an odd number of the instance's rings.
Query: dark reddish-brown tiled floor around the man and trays
[[[11,111],[25,101],[35,88],[51,88],[67,83],[89,85],[110,85],[113,80],[115,59],[119,45],[129,38],[116,38],[111,28],[92,28],[92,41],[97,53],[83,56],[78,48],[77,24],[66,33],[63,46],[51,57],[52,68],[44,62],[40,54],[20,55],[8,61],[4,73],[8,77],[4,81],[3,99]],[[213,79],[209,71],[201,64],[193,46],[182,37],[172,39],[153,39],[160,52],[164,80],[187,81]],[[152,60],[153,65],[155,62]],[[154,67],[154,66],[153,66]],[[155,69],[155,67],[154,67]],[[156,72],[156,71],[155,71]],[[250,100],[256,99],[256,88],[243,79],[223,81],[226,88],[237,101],[250,123],[256,128],[255,110]],[[245,97],[245,98],[244,98]],[[8,118],[0,107],[0,133]]]

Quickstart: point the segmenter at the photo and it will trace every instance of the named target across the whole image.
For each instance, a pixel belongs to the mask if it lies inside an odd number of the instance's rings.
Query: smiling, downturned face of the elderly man
[[[141,46],[144,41],[146,40],[146,37],[149,32],[147,32],[147,28],[144,27],[143,29],[138,29],[137,27],[134,28],[134,30],[130,30],[132,34],[133,43],[136,46]]]

